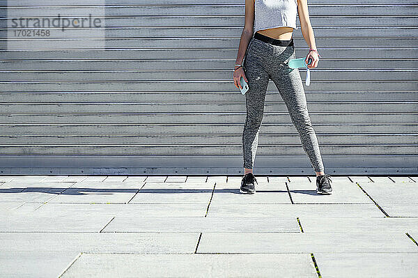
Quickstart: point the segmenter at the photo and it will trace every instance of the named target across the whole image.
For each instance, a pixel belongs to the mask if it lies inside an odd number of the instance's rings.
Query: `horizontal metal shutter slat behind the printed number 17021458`
[[[418,9],[417,9],[418,13]],[[121,27],[121,28],[68,28],[62,31],[60,28],[36,28],[36,29],[0,29],[0,38],[9,38],[8,42],[13,46],[17,45],[16,40],[21,40],[21,44],[26,41],[40,40],[39,43],[45,42],[45,36],[24,34],[40,31],[42,29],[49,30],[48,40],[56,38],[161,38],[161,37],[233,37],[241,36],[243,26],[226,26],[226,27]],[[418,27],[415,26],[315,26],[315,36],[318,38],[332,36],[334,38],[346,38],[349,36],[357,38],[381,38],[381,37],[398,37],[413,38],[417,36]],[[22,33],[24,32],[24,33]],[[301,29],[293,31],[293,35],[302,37]],[[53,48],[53,45],[51,45]]]

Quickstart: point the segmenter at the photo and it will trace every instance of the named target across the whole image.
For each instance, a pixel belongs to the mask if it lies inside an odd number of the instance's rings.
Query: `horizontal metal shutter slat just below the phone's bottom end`
[[[323,101],[322,91],[305,90],[308,102]],[[1,93],[2,102],[159,102],[187,100],[189,102],[241,102],[238,92],[28,92]],[[266,102],[283,100],[279,92],[266,91]],[[327,101],[418,101],[418,91],[330,91]]]

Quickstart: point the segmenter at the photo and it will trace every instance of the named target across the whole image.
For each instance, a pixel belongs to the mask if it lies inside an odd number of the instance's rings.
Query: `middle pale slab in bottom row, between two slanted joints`
[[[309,254],[85,253],[62,277],[137,277],[139,273],[146,277],[318,277]]]

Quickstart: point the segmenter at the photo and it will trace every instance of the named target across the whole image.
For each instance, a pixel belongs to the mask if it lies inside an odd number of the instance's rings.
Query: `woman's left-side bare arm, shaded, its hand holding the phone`
[[[244,59],[245,52],[247,51],[248,43],[251,40],[254,32],[254,0],[245,0],[245,23],[244,29],[242,29],[240,45],[238,47],[238,55],[235,63],[242,65],[242,60]],[[244,70],[242,67],[235,66],[233,72],[233,83],[235,87],[241,88],[240,77],[244,77],[245,82],[248,82],[247,77],[245,77]]]

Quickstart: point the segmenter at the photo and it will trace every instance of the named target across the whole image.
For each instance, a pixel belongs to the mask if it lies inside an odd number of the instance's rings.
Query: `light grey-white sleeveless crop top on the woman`
[[[254,32],[296,26],[297,0],[254,0]]]

